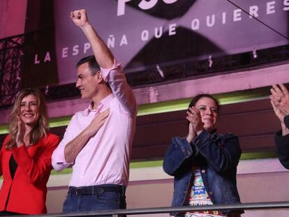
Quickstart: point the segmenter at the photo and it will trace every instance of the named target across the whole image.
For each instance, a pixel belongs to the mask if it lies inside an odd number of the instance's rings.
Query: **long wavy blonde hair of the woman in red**
[[[46,107],[45,98],[43,94],[38,89],[34,89],[34,88],[23,89],[22,91],[20,91],[20,93],[18,93],[15,99],[15,103],[13,105],[12,112],[10,114],[10,124],[9,124],[10,138],[6,144],[7,150],[11,150],[17,147],[17,144],[16,144],[16,135],[18,131],[17,115],[20,114],[20,106],[21,106],[22,99],[29,95],[34,95],[36,97],[37,105],[38,105],[38,122],[28,135],[29,142],[31,144],[35,144],[42,137],[45,137],[47,135],[47,132],[49,130],[49,121],[48,121],[48,115],[47,115],[47,107]]]

